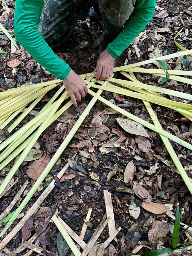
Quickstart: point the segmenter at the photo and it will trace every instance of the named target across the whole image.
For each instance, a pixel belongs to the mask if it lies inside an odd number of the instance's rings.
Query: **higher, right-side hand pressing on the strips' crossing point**
[[[111,56],[111,54],[104,50],[97,60],[97,67],[95,68],[94,72],[96,74],[96,80],[103,80],[112,76],[113,68],[114,68],[115,58]]]

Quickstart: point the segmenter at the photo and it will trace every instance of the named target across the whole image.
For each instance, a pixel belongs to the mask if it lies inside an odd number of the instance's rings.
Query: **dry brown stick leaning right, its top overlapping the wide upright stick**
[[[106,218],[106,217],[105,217]],[[85,249],[82,251],[81,256],[87,256],[87,254],[90,252],[91,248],[94,246],[95,242],[97,241],[97,239],[99,238],[100,234],[102,233],[103,229],[106,227],[106,225],[108,224],[110,220],[110,217],[107,218],[104,223],[103,223],[103,219],[100,222],[99,226],[97,227],[97,229],[95,230],[95,232],[93,233],[91,239],[89,240],[89,242],[87,243]],[[102,224],[102,225],[101,225]]]

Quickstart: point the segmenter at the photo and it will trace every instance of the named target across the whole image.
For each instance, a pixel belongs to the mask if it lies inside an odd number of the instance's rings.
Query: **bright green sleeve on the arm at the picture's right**
[[[107,50],[117,58],[144,29],[155,11],[156,0],[136,0],[133,13],[126,21],[120,34],[111,42]]]

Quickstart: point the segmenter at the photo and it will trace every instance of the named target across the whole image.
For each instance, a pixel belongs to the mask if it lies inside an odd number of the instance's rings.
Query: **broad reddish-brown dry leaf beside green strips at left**
[[[35,160],[31,165],[29,165],[26,171],[28,177],[37,180],[48,165],[49,161],[50,157],[48,154],[41,156],[38,160]]]

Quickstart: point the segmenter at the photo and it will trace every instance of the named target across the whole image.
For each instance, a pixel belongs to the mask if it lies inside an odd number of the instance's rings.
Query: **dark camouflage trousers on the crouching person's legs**
[[[119,34],[135,1],[99,0],[105,25],[102,38],[106,38],[108,43]],[[39,32],[52,48],[58,47],[67,40],[77,21],[86,19],[95,2],[98,0],[44,0]]]

